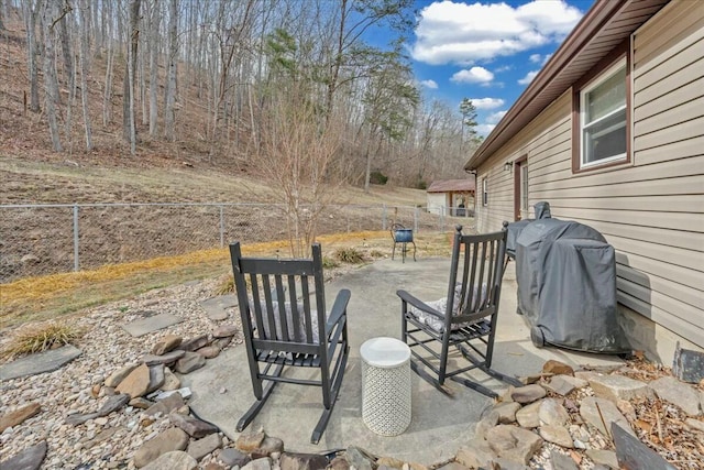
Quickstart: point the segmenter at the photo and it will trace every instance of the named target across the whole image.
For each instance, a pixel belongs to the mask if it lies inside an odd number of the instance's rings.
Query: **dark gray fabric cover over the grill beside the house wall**
[[[614,248],[593,228],[559,219],[521,227],[516,240],[518,310],[546,342],[626,352],[618,325]]]

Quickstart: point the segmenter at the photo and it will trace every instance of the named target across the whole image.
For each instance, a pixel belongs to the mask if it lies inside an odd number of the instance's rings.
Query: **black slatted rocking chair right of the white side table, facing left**
[[[399,289],[402,299],[402,340],[411,350],[411,368],[441,392],[451,379],[484,395],[497,394],[460,374],[480,369],[506,383],[521,386],[515,378],[491,369],[501,298],[506,222],[494,233],[462,234],[458,226],[452,245],[450,284],[446,298],[422,302]],[[450,348],[470,364],[448,370]],[[431,372],[428,372],[428,369]]]

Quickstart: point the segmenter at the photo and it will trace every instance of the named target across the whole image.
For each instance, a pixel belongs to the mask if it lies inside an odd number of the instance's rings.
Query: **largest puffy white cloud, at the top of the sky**
[[[431,65],[510,56],[560,42],[582,14],[562,0],[534,0],[518,8],[436,1],[419,13],[411,55]]]

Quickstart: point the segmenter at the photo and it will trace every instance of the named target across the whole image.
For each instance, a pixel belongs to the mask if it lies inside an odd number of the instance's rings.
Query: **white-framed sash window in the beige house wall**
[[[627,61],[580,90],[580,167],[627,160]]]

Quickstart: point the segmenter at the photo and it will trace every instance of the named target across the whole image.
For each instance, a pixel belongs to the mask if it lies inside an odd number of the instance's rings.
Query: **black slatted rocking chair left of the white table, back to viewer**
[[[237,430],[242,431],[254,419],[278,382],[315,385],[322,390],[324,406],[310,438],[318,444],[338,398],[350,352],[350,291],[341,289],[326,315],[319,243],[312,244],[312,259],[242,258],[239,242],[230,244],[230,256],[256,397]],[[284,376],[285,368],[315,368],[319,374],[307,380]]]

